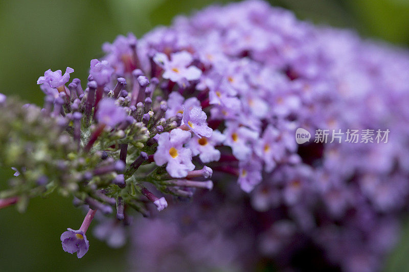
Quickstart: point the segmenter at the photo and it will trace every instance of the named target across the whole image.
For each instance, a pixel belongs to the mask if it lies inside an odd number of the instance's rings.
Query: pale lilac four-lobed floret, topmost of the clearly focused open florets
[[[179,86],[184,86],[186,81],[200,78],[201,70],[196,66],[189,66],[193,58],[188,52],[173,53],[170,57],[170,61],[164,53],[156,53],[153,57],[154,62],[165,70],[162,76],[164,79],[169,79],[179,84]]]

